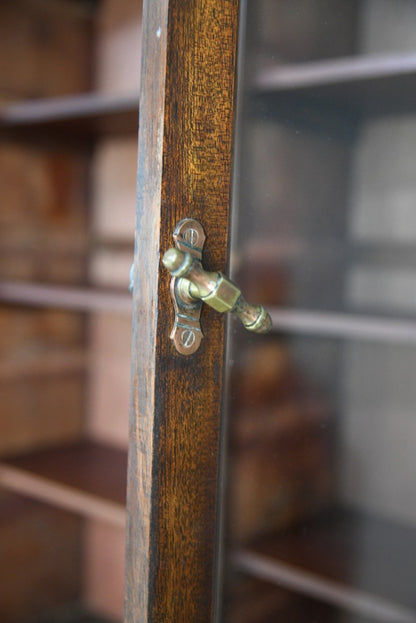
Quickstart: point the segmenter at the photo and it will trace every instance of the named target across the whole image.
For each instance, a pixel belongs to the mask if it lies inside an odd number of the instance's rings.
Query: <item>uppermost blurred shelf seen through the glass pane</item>
[[[414,112],[416,54],[357,56],[260,69],[253,78],[256,94],[280,105],[299,102],[360,116]]]

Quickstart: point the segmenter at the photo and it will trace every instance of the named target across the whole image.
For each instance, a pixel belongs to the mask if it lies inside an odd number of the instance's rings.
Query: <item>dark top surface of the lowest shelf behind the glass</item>
[[[335,582],[416,610],[416,530],[407,525],[346,507],[334,508],[295,528],[258,539],[247,549],[311,573],[323,584]]]

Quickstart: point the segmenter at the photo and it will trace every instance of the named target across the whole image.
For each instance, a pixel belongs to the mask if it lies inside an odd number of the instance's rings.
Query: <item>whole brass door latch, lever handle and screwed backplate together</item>
[[[162,262],[172,275],[175,323],[170,337],[180,353],[190,355],[200,346],[203,334],[199,320],[203,302],[221,313],[237,314],[249,331],[270,331],[272,321],[262,305],[247,303],[238,286],[222,273],[203,269],[205,233],[198,221],[180,221],[173,238],[176,246],[166,251]]]

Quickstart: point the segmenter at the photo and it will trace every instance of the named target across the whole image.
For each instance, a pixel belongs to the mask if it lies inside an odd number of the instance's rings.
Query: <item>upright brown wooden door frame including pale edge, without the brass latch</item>
[[[197,353],[179,355],[170,277],[176,223],[228,254],[239,0],[147,0],[143,11],[125,621],[212,621],[224,319],[204,309]]]

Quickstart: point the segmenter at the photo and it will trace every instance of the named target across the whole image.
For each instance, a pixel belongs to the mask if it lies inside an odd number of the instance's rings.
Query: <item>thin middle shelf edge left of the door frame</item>
[[[132,297],[128,292],[17,281],[0,281],[0,301],[31,307],[52,307],[74,311],[129,314],[132,309]]]

